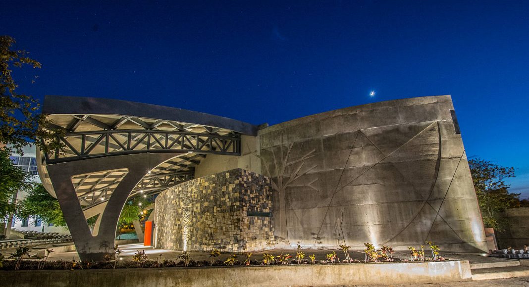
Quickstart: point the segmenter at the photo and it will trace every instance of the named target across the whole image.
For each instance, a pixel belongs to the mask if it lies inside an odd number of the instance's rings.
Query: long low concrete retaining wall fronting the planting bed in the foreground
[[[3,286],[332,286],[471,280],[468,261],[2,271]]]

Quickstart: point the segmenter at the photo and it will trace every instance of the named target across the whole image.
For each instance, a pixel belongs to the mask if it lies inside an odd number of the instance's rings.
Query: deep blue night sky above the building
[[[19,91],[253,124],[451,94],[469,158],[529,197],[528,1],[39,2],[0,0],[0,34],[43,66]]]

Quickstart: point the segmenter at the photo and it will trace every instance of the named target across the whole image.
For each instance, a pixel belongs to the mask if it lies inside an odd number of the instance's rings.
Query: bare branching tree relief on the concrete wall
[[[287,188],[292,186],[292,183],[297,179],[303,177],[303,175],[309,173],[317,167],[317,164],[314,164],[308,168],[305,166],[306,160],[316,155],[316,150],[312,149],[300,155],[303,149],[303,144],[303,142],[285,144],[284,134],[281,133],[279,145],[272,146],[270,144],[268,149],[262,150],[269,152],[271,154],[271,159],[267,160],[266,157],[257,155],[258,158],[263,161],[263,165],[265,166],[266,173],[270,178],[273,191],[276,192],[276,195],[279,199],[279,206],[274,208],[276,213],[274,216],[274,226],[276,229],[276,234],[279,236],[278,242],[282,240],[288,245],[290,245],[290,241],[288,238],[288,222],[286,214]],[[295,145],[296,148],[294,148]],[[296,153],[296,155],[294,155],[294,153]],[[304,186],[315,189],[312,186],[312,183],[314,183],[314,181],[304,184]]]

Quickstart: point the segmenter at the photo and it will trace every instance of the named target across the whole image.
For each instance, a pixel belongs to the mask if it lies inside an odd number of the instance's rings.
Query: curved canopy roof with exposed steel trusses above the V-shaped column
[[[57,139],[62,152],[42,154],[39,173],[54,195],[47,165],[139,153],[174,153],[175,157],[145,171],[131,187],[131,196],[158,193],[194,177],[206,154],[240,155],[241,134],[256,135],[257,127],[234,119],[190,110],[130,101],[46,96],[43,113],[65,131]],[[85,209],[106,202],[129,171],[103,170],[76,174],[71,180]]]

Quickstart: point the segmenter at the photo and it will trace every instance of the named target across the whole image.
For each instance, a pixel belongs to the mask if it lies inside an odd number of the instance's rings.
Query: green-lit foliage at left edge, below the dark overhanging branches
[[[9,152],[0,149],[0,218],[15,212],[13,196],[16,192],[30,190],[31,187],[31,175],[13,165]]]

